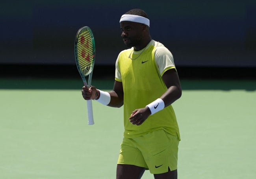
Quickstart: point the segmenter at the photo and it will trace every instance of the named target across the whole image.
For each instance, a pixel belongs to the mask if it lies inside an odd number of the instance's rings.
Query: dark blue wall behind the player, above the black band
[[[122,42],[119,19],[145,10],[152,38],[177,66],[256,67],[256,1],[8,0],[0,2],[0,64],[74,65],[74,38],[89,26],[96,65],[114,65]]]

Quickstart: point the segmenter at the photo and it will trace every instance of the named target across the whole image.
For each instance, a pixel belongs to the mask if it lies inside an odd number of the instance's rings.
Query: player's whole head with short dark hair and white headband
[[[121,37],[128,47],[141,50],[151,40],[149,19],[145,11],[141,9],[132,9],[122,15],[120,26],[122,30]]]

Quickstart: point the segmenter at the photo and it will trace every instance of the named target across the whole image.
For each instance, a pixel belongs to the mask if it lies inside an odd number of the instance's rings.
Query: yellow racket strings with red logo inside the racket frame
[[[78,62],[83,74],[89,73],[93,63],[94,48],[91,33],[88,30],[82,31],[79,35],[77,54]]]

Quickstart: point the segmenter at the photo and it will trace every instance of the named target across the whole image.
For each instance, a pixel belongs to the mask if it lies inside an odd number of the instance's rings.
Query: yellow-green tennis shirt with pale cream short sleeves
[[[145,107],[167,90],[162,75],[171,68],[175,68],[173,55],[163,44],[154,40],[140,51],[130,48],[120,52],[115,80],[122,82],[124,90],[124,137],[135,138],[163,129],[180,139],[171,105],[150,115],[141,125],[133,125],[129,121],[132,111]]]

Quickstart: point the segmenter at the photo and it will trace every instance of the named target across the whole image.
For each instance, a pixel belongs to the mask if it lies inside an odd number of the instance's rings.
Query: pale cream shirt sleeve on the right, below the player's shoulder
[[[175,68],[173,54],[164,46],[159,46],[155,51],[155,61],[158,66],[158,70],[163,76],[163,74],[172,68]]]

